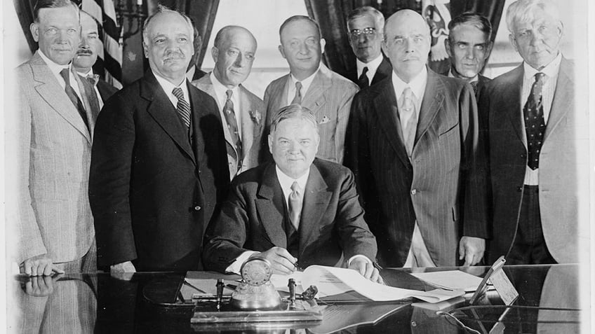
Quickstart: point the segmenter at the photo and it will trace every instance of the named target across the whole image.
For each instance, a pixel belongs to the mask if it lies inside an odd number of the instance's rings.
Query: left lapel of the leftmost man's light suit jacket
[[[87,139],[91,144],[91,134],[87,129],[79,111],[66,95],[66,92],[62,90],[62,86],[58,83],[58,79],[54,76],[46,62],[41,59],[38,53],[32,57],[29,61],[32,69],[33,78],[36,81],[35,90],[39,95],[54,109],[55,112],[60,114],[70,125],[76,130],[79,130],[83,137]]]

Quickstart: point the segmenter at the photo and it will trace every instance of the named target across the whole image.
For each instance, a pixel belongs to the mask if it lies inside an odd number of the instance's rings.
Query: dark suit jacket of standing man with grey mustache
[[[89,185],[99,265],[201,268],[203,230],[225,198],[229,174],[215,101],[187,85],[193,145],[150,70],[100,113]]]

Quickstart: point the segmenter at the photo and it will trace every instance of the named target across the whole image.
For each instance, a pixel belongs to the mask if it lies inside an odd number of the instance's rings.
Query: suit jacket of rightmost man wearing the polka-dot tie
[[[573,63],[562,59],[556,92],[551,102],[540,152],[539,202],[543,235],[547,248],[559,263],[577,261],[580,214],[577,203],[582,189],[579,174],[585,177],[588,161],[579,155],[577,139],[587,138],[579,120],[586,113],[575,111]],[[526,134],[523,128],[523,66],[491,81],[479,97],[482,116],[481,147],[489,167],[493,205],[493,241],[488,259],[507,255],[512,246],[523,200],[527,166]],[[483,155],[482,155],[483,156]],[[583,181],[584,183],[586,181]],[[582,216],[585,221],[587,217]]]

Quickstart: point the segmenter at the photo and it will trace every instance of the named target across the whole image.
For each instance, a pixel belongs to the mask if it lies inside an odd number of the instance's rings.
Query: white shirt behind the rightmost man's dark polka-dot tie
[[[530,67],[529,64],[523,62],[523,89],[521,90],[521,120],[523,126],[523,135],[525,136],[525,143],[527,143],[527,133],[525,131],[525,117],[523,115],[523,108],[527,103],[527,99],[529,94],[531,93],[531,88],[533,87],[533,83],[535,82],[535,74],[541,72],[545,74],[543,78],[543,88],[542,88],[542,106],[543,106],[543,118],[544,122],[547,125],[547,120],[549,119],[549,111],[551,110],[551,102],[554,100],[554,92],[556,92],[556,83],[558,82],[558,72],[560,70],[560,62],[562,62],[562,54],[558,53],[558,55],[547,64],[546,67],[538,71],[533,67]],[[526,144],[525,144],[526,145]],[[530,169],[529,166],[526,166],[525,172],[525,184],[528,186],[537,186],[539,184],[539,168]]]

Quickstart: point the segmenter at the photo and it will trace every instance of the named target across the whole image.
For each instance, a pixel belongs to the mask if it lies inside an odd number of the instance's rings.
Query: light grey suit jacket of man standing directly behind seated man
[[[290,74],[270,83],[265,90],[267,106],[267,131],[273,117],[288,105],[287,95]],[[312,84],[302,97],[302,106],[310,109],[319,125],[320,146],[316,158],[342,163],[345,147],[345,130],[349,120],[352,99],[359,88],[347,78],[320,65]]]

